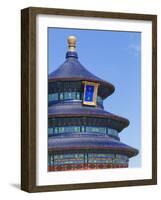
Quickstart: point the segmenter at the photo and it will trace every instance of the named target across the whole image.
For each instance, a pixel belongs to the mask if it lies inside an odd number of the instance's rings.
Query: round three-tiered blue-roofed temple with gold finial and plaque
[[[103,107],[114,90],[79,62],[69,36],[65,62],[48,76],[48,171],[128,167],[138,150],[119,133],[129,121]]]

